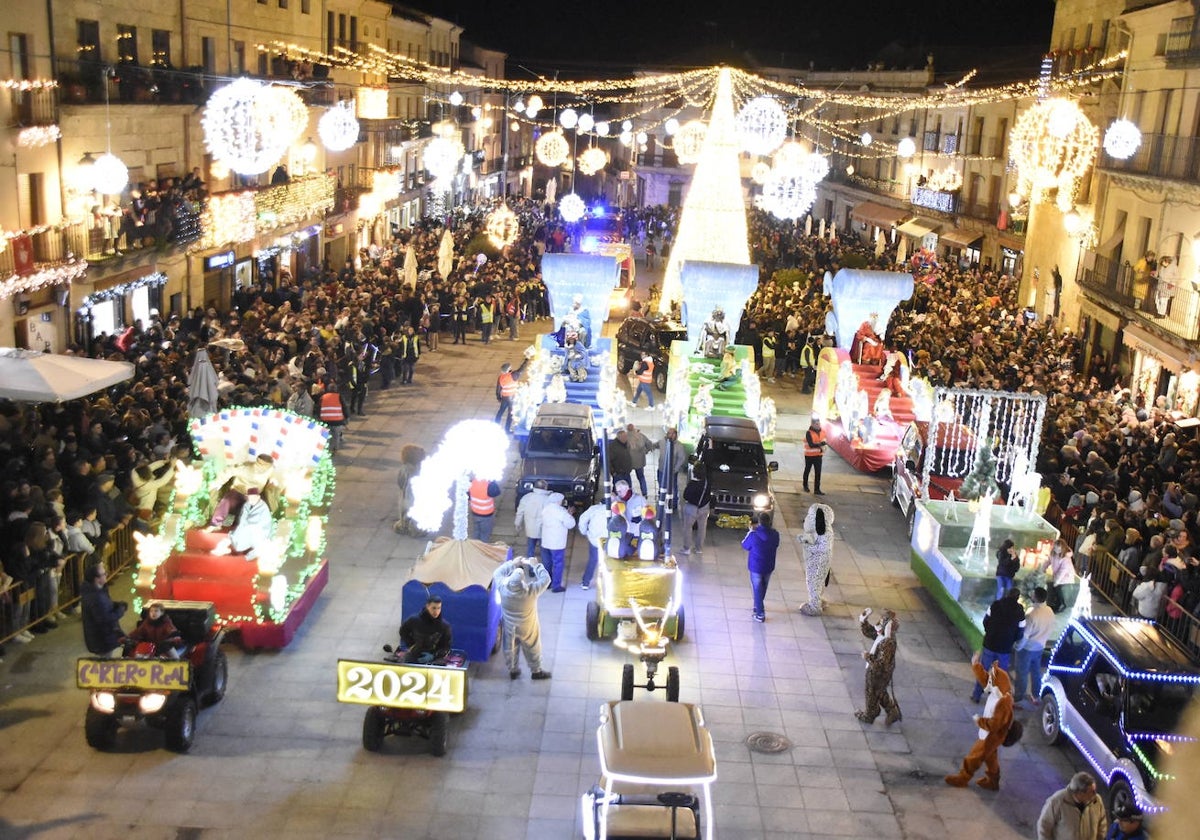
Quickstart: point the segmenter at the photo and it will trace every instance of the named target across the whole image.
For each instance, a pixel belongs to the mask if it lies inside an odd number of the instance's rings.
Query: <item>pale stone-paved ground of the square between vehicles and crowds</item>
[[[644,283],[644,280],[643,280]],[[542,322],[546,324],[546,322]],[[611,328],[610,328],[611,329]],[[523,335],[534,330],[526,325]],[[451,720],[449,754],[419,739],[360,745],[362,709],[335,701],[338,656],[372,656],[395,640],[400,590],[421,553],[396,536],[400,446],[432,449],[463,418],[491,418],[502,361],[526,342],[443,342],[412,386],[373,394],[370,416],[337,456],[330,516],[330,586],[293,644],[278,653],[229,652],[229,690],[202,713],[191,754],[162,749],[157,732],[122,738],[110,754],[84,743],[86,698],[73,685],[83,650],[77,619],[34,643],[11,646],[0,665],[0,838],[97,840],[398,838],[564,840],[580,836],[580,794],[595,782],[596,712],[619,691],[628,654],[584,637],[590,595],[578,588],[587,550],[569,558],[570,589],[541,601],[553,679],[511,682],[498,656],[472,666],[469,709]],[[784,546],[767,623],[750,619],[742,532],[709,529],[703,558],[689,558],[688,637],[667,664],[682,698],[700,702],[716,742],[716,835],[739,840],[1030,838],[1043,799],[1082,766],[1070,749],[1026,740],[1004,750],[1002,790],[954,790],[941,776],[974,738],[967,653],[908,569],[900,515],[886,482],[827,457],[826,502],[836,511],[830,608],[805,618],[794,533],[812,497],[799,494],[808,397],[794,380],[767,392],[780,406],[775,490]],[[658,437],[649,412],[640,425]],[[515,470],[516,448],[509,452]],[[511,540],[506,482],[496,539]],[[120,586],[120,583],[118,584]],[[863,726],[865,647],[853,617],[889,606],[900,616],[895,691],[904,721]],[[659,696],[646,702],[662,702]],[[882,720],[882,719],[881,719]],[[751,752],[756,732],[792,748]]]

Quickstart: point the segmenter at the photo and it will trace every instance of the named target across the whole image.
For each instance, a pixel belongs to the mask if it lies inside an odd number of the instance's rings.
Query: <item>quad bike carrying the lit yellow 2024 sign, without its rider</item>
[[[418,736],[444,756],[450,714],[467,706],[467,655],[451,650],[428,664],[406,662],[384,644],[382,662],[337,660],[337,700],[366,704],[362,749],[378,752],[385,736]]]

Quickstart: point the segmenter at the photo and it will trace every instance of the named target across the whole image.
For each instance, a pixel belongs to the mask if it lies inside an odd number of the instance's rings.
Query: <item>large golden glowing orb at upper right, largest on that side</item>
[[[1069,208],[1079,180],[1096,160],[1099,138],[1099,128],[1075,102],[1055,97],[1033,104],[1009,134],[1018,190],[1033,202],[1057,188],[1060,206]]]

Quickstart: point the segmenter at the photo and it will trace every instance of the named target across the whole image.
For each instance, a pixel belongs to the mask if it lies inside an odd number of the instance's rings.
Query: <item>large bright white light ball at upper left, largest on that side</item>
[[[266,90],[254,79],[236,79],[209,97],[200,118],[209,152],[241,175],[266,172],[295,139],[270,119],[278,100]]]

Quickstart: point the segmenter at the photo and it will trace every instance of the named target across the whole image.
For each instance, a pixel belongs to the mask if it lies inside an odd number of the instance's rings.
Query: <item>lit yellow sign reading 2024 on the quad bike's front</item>
[[[337,660],[337,700],[394,709],[462,712],[466,668]]]

